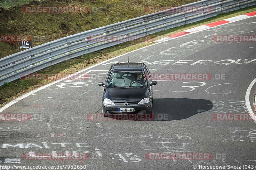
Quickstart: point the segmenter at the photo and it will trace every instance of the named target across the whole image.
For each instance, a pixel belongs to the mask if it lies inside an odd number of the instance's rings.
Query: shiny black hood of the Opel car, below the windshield
[[[148,97],[148,88],[107,88],[105,98],[113,102],[139,102]]]

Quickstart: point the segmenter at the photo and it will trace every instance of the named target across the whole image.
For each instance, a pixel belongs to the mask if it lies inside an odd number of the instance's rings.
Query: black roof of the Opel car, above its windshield
[[[143,63],[117,63],[114,64],[113,72],[120,72],[120,71],[142,71]]]

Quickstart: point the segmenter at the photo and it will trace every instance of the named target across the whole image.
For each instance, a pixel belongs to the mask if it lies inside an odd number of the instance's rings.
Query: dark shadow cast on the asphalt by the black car
[[[164,98],[153,99],[155,120],[181,120],[212,109],[212,102],[205,99]]]

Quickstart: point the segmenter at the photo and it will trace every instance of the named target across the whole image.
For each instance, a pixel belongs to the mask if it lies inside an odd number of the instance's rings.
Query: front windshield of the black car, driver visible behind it
[[[146,87],[143,72],[112,72],[108,81],[108,87]]]

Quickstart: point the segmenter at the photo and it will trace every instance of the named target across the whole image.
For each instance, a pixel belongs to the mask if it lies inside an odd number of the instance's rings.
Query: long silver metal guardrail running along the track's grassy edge
[[[148,35],[255,4],[256,0],[201,0],[35,46],[0,59],[0,86],[2,86],[4,82],[19,79],[21,74],[34,73],[64,60],[69,60],[86,53],[122,43],[111,41],[109,35],[118,35],[120,37],[126,35]],[[186,6],[196,6],[197,9],[187,12],[180,12],[178,10]],[[205,13],[195,12],[195,10],[205,7],[208,7],[211,11]],[[179,11],[179,13],[171,12],[175,10]],[[87,39],[88,36],[96,36],[104,40],[94,42]]]

